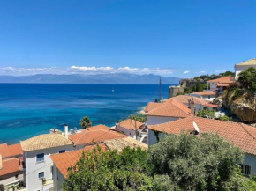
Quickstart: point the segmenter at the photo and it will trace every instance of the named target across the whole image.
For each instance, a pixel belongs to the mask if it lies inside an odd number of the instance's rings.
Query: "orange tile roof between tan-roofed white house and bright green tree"
[[[53,154],[50,155],[53,163],[56,165],[57,169],[66,177],[68,173],[68,168],[72,165],[75,165],[83,151],[91,151],[96,144],[88,145],[82,150],[77,151],[68,151],[60,154]],[[100,143],[99,146],[102,148],[102,151],[107,151],[107,148],[104,143]]]

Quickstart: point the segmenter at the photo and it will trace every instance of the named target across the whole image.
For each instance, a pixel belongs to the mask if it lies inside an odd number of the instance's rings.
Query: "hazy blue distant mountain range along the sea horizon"
[[[45,84],[159,84],[161,76],[154,74],[136,75],[128,73],[99,75],[55,75],[38,74],[33,76],[0,76],[0,83],[45,83]],[[178,77],[161,77],[162,84],[178,84]]]

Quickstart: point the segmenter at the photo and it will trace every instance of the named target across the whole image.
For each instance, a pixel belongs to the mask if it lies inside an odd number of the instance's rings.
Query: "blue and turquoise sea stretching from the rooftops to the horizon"
[[[162,84],[162,99],[168,87]],[[112,127],[159,96],[157,84],[0,84],[0,143],[79,127],[83,116],[93,125]]]

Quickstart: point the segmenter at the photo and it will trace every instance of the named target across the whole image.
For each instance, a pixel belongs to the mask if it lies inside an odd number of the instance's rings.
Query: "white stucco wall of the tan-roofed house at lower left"
[[[28,191],[41,190],[42,180],[38,179],[38,173],[44,172],[46,180],[52,179],[52,160],[49,158],[51,154],[56,154],[61,150],[72,151],[72,145],[64,145],[38,151],[24,151],[24,158],[26,161],[26,189]],[[44,161],[37,163],[36,155],[44,153]],[[53,185],[51,186],[53,187]],[[44,191],[46,191],[44,189]]]

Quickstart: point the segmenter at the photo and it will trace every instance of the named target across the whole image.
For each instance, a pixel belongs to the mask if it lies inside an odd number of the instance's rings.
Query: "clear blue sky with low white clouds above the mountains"
[[[256,1],[0,1],[0,75],[194,77],[255,54]]]

